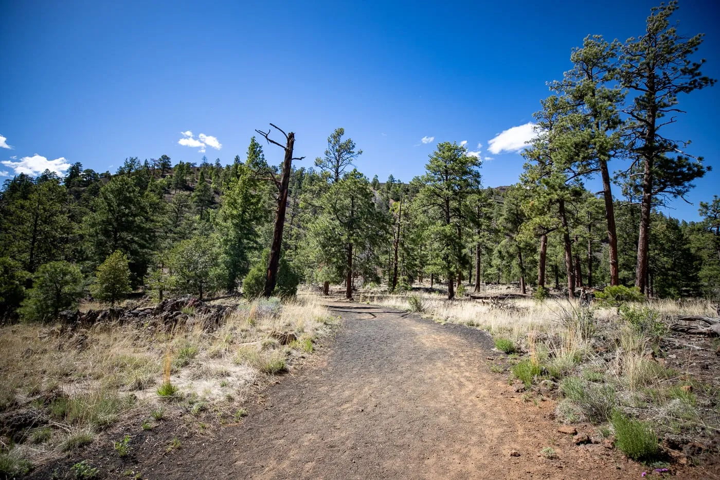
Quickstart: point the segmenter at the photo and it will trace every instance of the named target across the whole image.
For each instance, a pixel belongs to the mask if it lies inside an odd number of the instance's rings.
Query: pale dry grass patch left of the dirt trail
[[[331,323],[312,298],[240,303],[215,332],[196,320],[169,333],[115,324],[77,332],[39,324],[1,327],[0,412],[40,409],[53,421],[49,435],[42,432],[42,442],[28,450],[30,460],[87,443],[126,415],[148,417],[160,405],[156,386],[165,383],[178,390],[165,404],[166,416],[186,412],[183,403],[232,406],[234,412],[253,382],[307,355]],[[298,341],[279,345],[272,332],[292,333]],[[256,357],[242,354],[252,350]]]

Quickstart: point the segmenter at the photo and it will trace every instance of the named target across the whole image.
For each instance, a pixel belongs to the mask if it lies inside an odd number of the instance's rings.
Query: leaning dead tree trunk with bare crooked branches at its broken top
[[[268,130],[267,132],[264,132],[262,130],[255,130],[260,135],[263,135],[266,141],[268,141],[269,143],[273,143],[280,148],[283,148],[285,151],[285,159],[282,164],[282,177],[280,177],[280,179],[277,179],[275,177],[275,174],[269,171],[270,179],[277,187],[278,195],[277,211],[275,214],[275,230],[273,232],[272,244],[270,246],[270,259],[268,262],[267,276],[265,277],[265,289],[263,290],[263,296],[265,298],[269,298],[270,295],[272,295],[273,290],[275,290],[275,284],[277,282],[277,268],[280,264],[280,254],[282,252],[282,231],[285,226],[285,210],[287,209],[287,194],[289,190],[288,186],[290,183],[290,172],[292,171],[292,161],[302,160],[305,158],[304,156],[301,156],[300,158],[293,158],[292,156],[292,149],[294,148],[295,144],[294,133],[285,133],[272,123],[270,124],[270,126],[285,135],[286,144],[283,146],[281,143],[277,143],[276,141],[271,140],[269,137],[271,130]]]

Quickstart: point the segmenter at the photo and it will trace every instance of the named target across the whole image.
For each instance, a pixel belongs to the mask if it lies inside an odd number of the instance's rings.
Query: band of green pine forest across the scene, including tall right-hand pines
[[[314,164],[293,159],[270,293],[342,283],[349,298],[370,283],[441,283],[454,298],[517,282],[540,295],[628,285],[716,298],[720,198],[698,205],[701,221],[661,209],[709,170],[689,141],[665,134],[682,121],[683,94],[714,84],[694,59],[702,35],[680,36],[670,22],[676,8],[654,9],[642,37],[588,36],[572,50],[572,68],[549,83],[535,114],[516,185],[483,185],[482,161],[451,142],[438,143],[409,182],[371,180],[359,171],[359,146],[334,130]],[[64,177],[6,180],[1,315],[45,319],[88,293],[112,303],[132,290],[264,293],[284,168],[274,165],[282,145],[265,138],[250,138],[226,165],[132,157],[114,174],[76,163]],[[593,178],[599,192],[585,185]]]

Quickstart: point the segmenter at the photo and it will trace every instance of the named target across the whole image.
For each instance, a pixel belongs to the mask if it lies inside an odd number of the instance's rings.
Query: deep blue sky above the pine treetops
[[[272,122],[296,133],[296,154],[307,156],[298,166],[343,127],[369,177],[408,181],[438,141],[467,141],[492,158],[485,185],[509,185],[523,160],[498,150],[522,131],[505,133],[495,152],[490,140],[532,120],[545,82],[570,68],[585,35],[640,35],[654,4],[2,1],[0,146],[12,149],[0,148],[0,161],[13,163],[0,172],[42,158],[100,172],[128,156],[228,163]],[[706,33],[703,73],[720,78],[717,2],[681,1],[675,19],[680,32]],[[667,212],[690,220],[720,192],[720,86],[680,107],[688,113],[672,133],[715,167],[688,195],[696,205],[678,200]],[[279,148],[265,149],[281,161]]]

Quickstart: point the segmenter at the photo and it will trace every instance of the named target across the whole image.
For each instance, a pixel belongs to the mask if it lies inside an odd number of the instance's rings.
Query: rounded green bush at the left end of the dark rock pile
[[[24,319],[51,319],[62,310],[75,308],[83,295],[83,274],[70,262],[41,265],[32,279],[32,288],[27,290],[27,297],[20,308]]]

